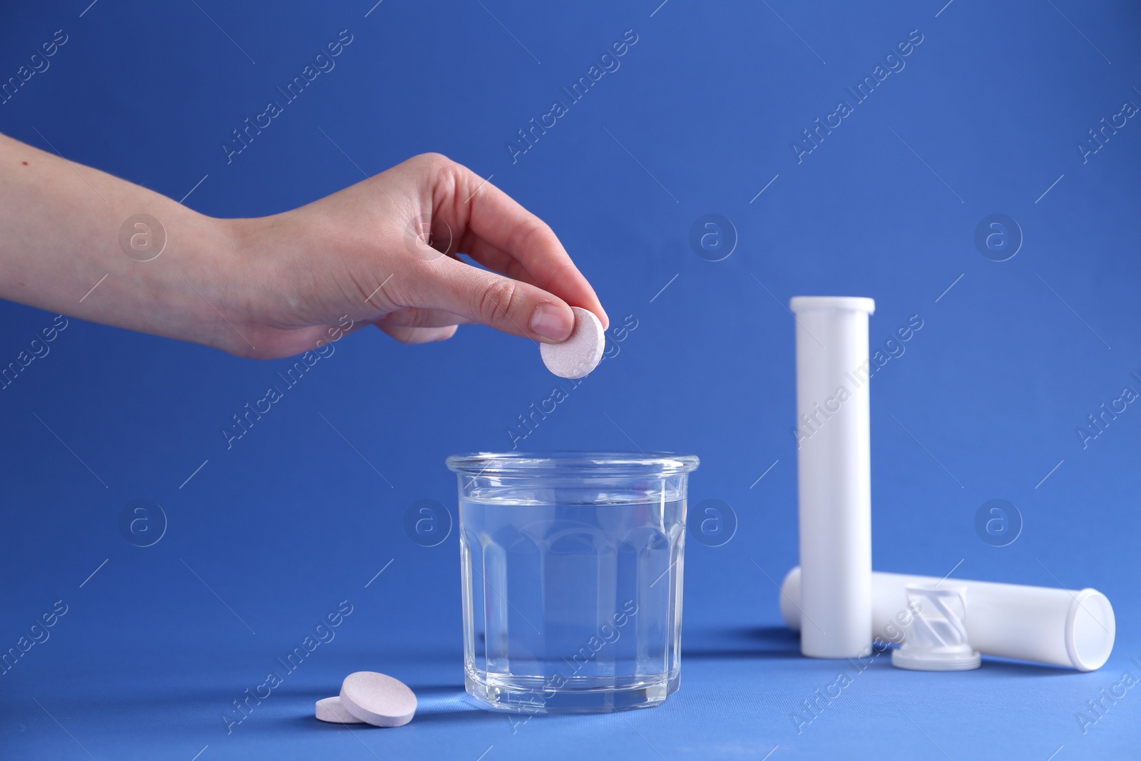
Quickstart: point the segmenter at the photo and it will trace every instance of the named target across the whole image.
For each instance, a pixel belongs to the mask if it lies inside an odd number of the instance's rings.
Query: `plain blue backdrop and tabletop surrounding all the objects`
[[[637,321],[526,447],[697,454],[691,511],[722,500],[739,525],[722,547],[689,542],[682,688],[666,704],[513,724],[462,690],[454,532],[421,547],[404,513],[436,500],[454,517],[444,458],[510,447],[555,380],[534,345],[484,327],[420,347],[354,333],[227,450],[222,427],[290,362],[71,319],[0,391],[0,647],[67,605],[0,678],[0,755],[1138,754],[1141,688],[1084,734],[1075,714],[1141,675],[1141,408],[1085,448],[1076,430],[1141,390],[1141,123],[1086,163],[1077,145],[1141,104],[1141,11],[658,1],[5,5],[2,78],[55,30],[68,41],[0,106],[0,129],[176,200],[202,180],[186,204],[203,213],[283,211],[359,181],[354,162],[373,173],[427,151],[494,175],[560,235],[613,322]],[[621,67],[512,163],[516,130],[630,29]],[[227,164],[230,130],[341,30],[353,42],[335,68]],[[798,163],[801,130],[912,30],[906,67]],[[706,213],[736,229],[722,261],[689,244]],[[973,241],[992,213],[1025,237],[1006,261]],[[775,586],[796,562],[784,307],[817,293],[875,298],[873,346],[923,321],[873,384],[875,567],[1095,586],[1118,625],[1102,670],[988,659],[922,674],[884,656],[798,732],[790,714],[845,665],[799,656]],[[6,364],[52,315],[3,303],[0,319]],[[974,529],[992,499],[1023,520],[1006,547]],[[165,513],[153,547],[120,532],[132,500]],[[230,702],[341,600],[353,613],[335,639],[227,735]],[[418,690],[410,726],[311,718],[364,669]]]

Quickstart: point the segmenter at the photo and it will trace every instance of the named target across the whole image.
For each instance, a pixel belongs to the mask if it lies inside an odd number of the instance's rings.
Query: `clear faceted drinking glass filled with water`
[[[463,669],[496,709],[662,703],[681,669],[686,479],[697,458],[453,455]]]

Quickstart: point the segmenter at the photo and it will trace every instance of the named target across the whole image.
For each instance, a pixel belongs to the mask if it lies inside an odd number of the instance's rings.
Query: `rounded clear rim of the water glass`
[[[472,452],[453,454],[450,470],[468,476],[681,476],[697,469],[691,454],[672,452]]]

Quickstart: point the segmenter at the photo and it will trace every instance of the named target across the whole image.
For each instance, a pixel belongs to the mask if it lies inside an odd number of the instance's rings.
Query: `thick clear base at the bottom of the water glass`
[[[476,671],[464,673],[468,694],[488,707],[519,713],[609,713],[649,709],[678,691],[681,677],[674,673],[641,679],[569,679],[555,689],[551,680],[539,677],[508,677]]]

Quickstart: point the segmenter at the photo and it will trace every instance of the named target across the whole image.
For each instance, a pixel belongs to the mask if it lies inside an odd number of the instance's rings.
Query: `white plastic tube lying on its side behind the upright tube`
[[[875,639],[900,642],[907,609],[908,584],[934,584],[934,576],[872,574],[872,632]],[[966,586],[966,633],[982,655],[1037,661],[1094,671],[1114,649],[1117,626],[1114,608],[1095,589],[1066,590],[1021,584],[954,581]],[[801,629],[800,566],[780,585],[780,617],[793,631]],[[811,625],[811,624],[809,624]]]

